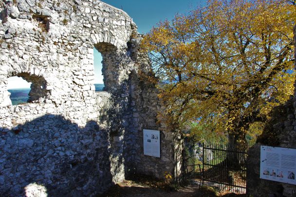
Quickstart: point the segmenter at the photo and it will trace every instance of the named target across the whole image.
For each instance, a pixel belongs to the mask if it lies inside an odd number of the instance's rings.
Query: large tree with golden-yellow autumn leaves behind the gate
[[[209,0],[143,39],[166,105],[160,118],[227,133],[230,149],[294,92],[296,9],[280,0]]]

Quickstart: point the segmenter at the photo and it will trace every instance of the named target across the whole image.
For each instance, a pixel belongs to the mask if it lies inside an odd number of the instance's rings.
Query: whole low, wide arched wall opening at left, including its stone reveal
[[[48,95],[46,80],[41,76],[19,73],[8,78],[8,91],[12,105],[40,102]]]

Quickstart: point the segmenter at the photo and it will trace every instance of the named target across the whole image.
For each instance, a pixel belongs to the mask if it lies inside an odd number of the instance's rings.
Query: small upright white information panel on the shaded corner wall
[[[143,129],[144,155],[160,158],[160,132]]]

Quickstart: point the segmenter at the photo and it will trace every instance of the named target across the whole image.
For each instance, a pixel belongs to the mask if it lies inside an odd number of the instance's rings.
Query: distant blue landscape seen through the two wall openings
[[[104,84],[94,84],[95,91],[102,91],[104,88]],[[10,92],[10,100],[12,105],[19,105],[20,103],[26,103],[29,99],[30,88],[21,88],[21,89],[11,89],[8,90]]]

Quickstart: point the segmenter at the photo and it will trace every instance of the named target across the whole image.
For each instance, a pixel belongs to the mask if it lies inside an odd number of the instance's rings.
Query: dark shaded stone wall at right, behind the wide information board
[[[247,194],[255,197],[296,196],[296,186],[260,177],[260,145],[296,149],[294,98],[273,109],[272,119],[265,126],[257,143],[248,151]]]

